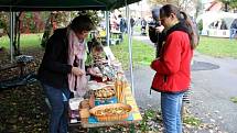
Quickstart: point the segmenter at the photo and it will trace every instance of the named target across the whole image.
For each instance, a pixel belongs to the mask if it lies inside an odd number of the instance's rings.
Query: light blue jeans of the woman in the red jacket
[[[182,93],[161,93],[161,112],[164,133],[182,133]]]

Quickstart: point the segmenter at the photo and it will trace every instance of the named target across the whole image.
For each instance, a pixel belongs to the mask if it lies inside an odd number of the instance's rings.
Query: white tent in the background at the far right
[[[203,35],[208,35],[208,36],[217,36],[217,37],[229,37],[230,33],[230,26],[234,20],[237,19],[237,13],[230,13],[230,12],[222,12],[222,11],[209,11],[205,12],[201,15],[197,16],[196,23],[200,21],[203,22]],[[226,29],[213,29],[211,26],[212,23],[215,23],[217,21],[224,21],[226,24]]]

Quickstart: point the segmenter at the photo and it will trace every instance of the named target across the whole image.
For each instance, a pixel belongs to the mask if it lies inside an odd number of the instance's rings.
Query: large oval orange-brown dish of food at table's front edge
[[[108,112],[106,112],[106,110]],[[119,111],[119,113],[116,112]],[[121,112],[121,110],[123,110]],[[111,112],[114,111],[114,112]],[[131,106],[123,103],[111,103],[95,107],[89,112],[97,118],[98,121],[121,121],[129,117]]]

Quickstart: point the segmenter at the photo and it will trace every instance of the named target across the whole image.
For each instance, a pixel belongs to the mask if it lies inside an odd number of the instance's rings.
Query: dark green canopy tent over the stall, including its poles
[[[13,38],[13,21],[15,11],[75,11],[75,10],[105,10],[107,11],[107,42],[109,42],[109,23],[108,23],[108,11],[126,7],[126,14],[128,22],[130,23],[130,12],[128,4],[138,2],[141,0],[0,0],[0,11],[11,11],[11,33],[10,33],[10,51],[11,60],[12,56],[12,38]],[[132,73],[132,40],[131,40],[131,25],[128,24],[129,35],[129,62],[130,62],[130,78],[131,78],[131,90],[134,95],[133,89],[133,73]]]

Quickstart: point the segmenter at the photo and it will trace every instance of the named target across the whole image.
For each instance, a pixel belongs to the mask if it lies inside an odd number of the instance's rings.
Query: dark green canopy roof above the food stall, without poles
[[[0,0],[0,11],[112,10],[140,0]]]

